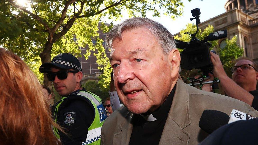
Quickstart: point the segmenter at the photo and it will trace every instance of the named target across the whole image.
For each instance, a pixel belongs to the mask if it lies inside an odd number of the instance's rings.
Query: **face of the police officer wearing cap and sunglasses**
[[[72,70],[72,69],[69,69]],[[52,72],[58,72],[60,69],[51,68]],[[68,72],[66,79],[58,79],[57,76],[53,81],[53,85],[57,93],[61,96],[67,96],[73,91],[76,91],[76,75]]]

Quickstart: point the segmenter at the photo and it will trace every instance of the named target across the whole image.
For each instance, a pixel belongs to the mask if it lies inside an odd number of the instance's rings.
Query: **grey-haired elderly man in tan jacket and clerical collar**
[[[258,112],[239,100],[198,90],[178,79],[180,53],[173,35],[148,18],[130,18],[107,34],[114,84],[124,106],[102,126],[101,143],[198,144],[206,109]]]

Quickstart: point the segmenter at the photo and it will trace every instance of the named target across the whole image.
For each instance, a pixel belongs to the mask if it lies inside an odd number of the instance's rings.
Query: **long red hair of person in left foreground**
[[[17,55],[0,48],[1,144],[60,144],[47,98],[34,73]],[[62,130],[62,129],[61,129]]]

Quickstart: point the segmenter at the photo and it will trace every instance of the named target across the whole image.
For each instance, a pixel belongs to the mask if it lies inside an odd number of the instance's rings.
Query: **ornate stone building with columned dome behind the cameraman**
[[[212,25],[214,31],[227,29],[228,39],[237,35],[237,44],[244,49],[243,55],[258,64],[258,0],[228,0],[224,7],[225,13],[202,22],[200,29]],[[225,47],[225,39],[219,40],[219,46]]]

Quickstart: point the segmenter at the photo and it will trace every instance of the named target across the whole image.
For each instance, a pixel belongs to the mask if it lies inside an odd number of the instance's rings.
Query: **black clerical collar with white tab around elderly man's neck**
[[[172,91],[169,93],[167,99],[163,102],[160,107],[155,110],[152,114],[150,115],[141,115],[146,121],[155,121],[159,119],[163,119],[164,117],[168,116],[169,110],[171,108],[172,100],[174,97],[176,91],[176,85],[172,89]]]

